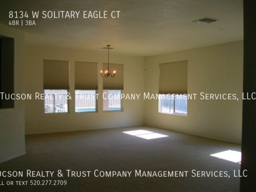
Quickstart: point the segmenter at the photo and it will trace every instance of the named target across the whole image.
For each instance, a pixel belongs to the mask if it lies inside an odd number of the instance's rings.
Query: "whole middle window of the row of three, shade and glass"
[[[96,112],[98,63],[75,62],[75,112]]]

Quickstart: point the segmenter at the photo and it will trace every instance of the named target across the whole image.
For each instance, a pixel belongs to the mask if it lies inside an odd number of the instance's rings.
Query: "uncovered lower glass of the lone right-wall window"
[[[188,114],[187,95],[162,94],[159,97],[159,112],[169,114]]]

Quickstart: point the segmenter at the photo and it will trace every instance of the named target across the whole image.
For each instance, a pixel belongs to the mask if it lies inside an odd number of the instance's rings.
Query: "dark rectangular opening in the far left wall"
[[[14,38],[0,35],[0,92],[14,93]],[[14,108],[14,100],[0,97],[1,108]]]

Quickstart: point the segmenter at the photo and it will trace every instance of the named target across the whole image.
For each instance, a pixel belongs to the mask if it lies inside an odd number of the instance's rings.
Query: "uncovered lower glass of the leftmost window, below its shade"
[[[67,113],[68,90],[44,90],[44,113]]]

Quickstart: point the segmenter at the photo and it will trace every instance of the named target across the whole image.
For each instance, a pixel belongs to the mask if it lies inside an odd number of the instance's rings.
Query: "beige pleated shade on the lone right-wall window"
[[[159,94],[187,94],[188,61],[159,64]]]

